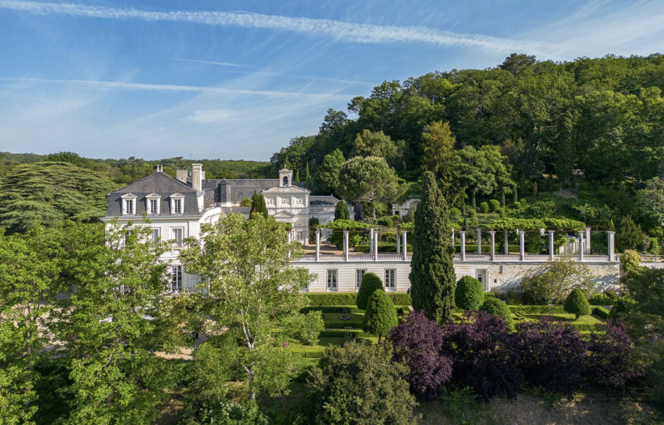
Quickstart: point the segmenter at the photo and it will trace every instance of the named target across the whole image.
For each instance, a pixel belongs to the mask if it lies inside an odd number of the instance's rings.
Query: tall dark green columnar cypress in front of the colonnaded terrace
[[[426,171],[422,178],[422,199],[415,212],[414,239],[408,276],[413,307],[443,323],[454,309],[454,248],[448,204],[430,171]]]

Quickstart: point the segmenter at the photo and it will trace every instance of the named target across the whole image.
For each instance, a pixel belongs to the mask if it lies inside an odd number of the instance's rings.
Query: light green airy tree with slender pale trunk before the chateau
[[[289,257],[291,253],[291,257]],[[307,300],[301,293],[315,275],[291,266],[301,255],[297,242],[272,217],[244,220],[228,214],[201,226],[200,240],[190,239],[180,259],[189,273],[201,276],[201,313],[210,317],[210,332],[231,331],[244,349],[237,360],[251,400],[256,393],[288,390],[298,365],[284,347],[286,332],[273,329],[295,321]]]

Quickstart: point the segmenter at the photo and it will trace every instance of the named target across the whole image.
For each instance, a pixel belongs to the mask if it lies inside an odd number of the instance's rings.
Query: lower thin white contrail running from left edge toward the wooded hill
[[[206,86],[182,86],[177,84],[145,84],[122,81],[99,81],[99,80],[52,80],[47,78],[7,78],[0,80],[27,80],[32,82],[78,84],[84,86],[100,86],[103,88],[115,88],[120,90],[149,90],[157,92],[199,92],[214,94],[244,94],[250,96],[267,96],[270,98],[315,98],[315,99],[344,99],[352,98],[351,94],[332,93],[300,93],[300,92],[278,92],[274,90],[241,90],[236,88],[206,87]]]

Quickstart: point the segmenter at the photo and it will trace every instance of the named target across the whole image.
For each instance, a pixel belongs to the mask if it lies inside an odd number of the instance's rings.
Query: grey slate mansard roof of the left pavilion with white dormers
[[[183,195],[185,199],[183,200],[183,215],[201,215],[203,212],[199,213],[199,207],[196,200],[196,191],[192,189],[186,183],[174,179],[173,177],[165,173],[152,173],[147,177],[143,177],[139,181],[130,183],[117,191],[113,191],[108,195],[108,209],[106,210],[106,216],[122,216],[122,195],[131,193],[136,195],[135,203],[135,216],[140,217],[147,211],[147,201],[145,197],[155,193],[156,195],[161,196],[159,199],[159,216],[169,216],[171,215],[171,195],[179,193]],[[203,201],[204,209],[214,207],[214,202],[209,199]],[[153,214],[150,214],[153,216]]]

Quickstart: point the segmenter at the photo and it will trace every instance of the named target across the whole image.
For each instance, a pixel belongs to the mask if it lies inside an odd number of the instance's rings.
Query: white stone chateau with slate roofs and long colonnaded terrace
[[[380,252],[378,232],[369,231],[369,253],[353,252],[349,248],[349,232],[343,232],[343,249],[337,250],[325,241],[328,234],[321,229],[314,231],[315,244],[309,244],[309,219],[317,218],[320,224],[333,221],[334,210],[340,201],[332,196],[312,196],[301,183],[292,181],[293,172],[283,169],[278,179],[205,179],[201,164],[193,164],[191,175],[187,170],[177,170],[177,178],[157,171],[135,183],[131,183],[108,195],[108,211],[102,218],[109,222],[118,218],[124,224],[129,220],[141,223],[145,213],[153,228],[153,238],[172,241],[172,247],[163,260],[171,264],[171,291],[174,294],[196,286],[199,278],[187,274],[178,256],[183,239],[199,236],[202,223],[214,223],[228,213],[249,214],[250,208],[240,207],[243,199],[256,191],[265,198],[268,213],[282,222],[292,224],[290,240],[301,242],[305,249],[302,258],[293,261],[318,278],[307,288],[311,292],[354,292],[359,288],[363,274],[373,272],[380,276],[388,291],[406,292],[410,288],[411,254],[408,252],[408,232],[397,232],[396,252]],[[393,211],[401,216],[415,207],[418,200],[410,199],[401,205],[393,205]],[[351,218],[353,218],[352,208]],[[313,229],[312,229],[313,230]],[[322,229],[327,231],[327,229]],[[469,275],[482,282],[484,290],[505,290],[518,286],[529,274],[541,272],[550,262],[568,256],[588,264],[601,289],[618,285],[620,262],[614,254],[614,232],[606,232],[606,255],[590,255],[590,228],[576,234],[576,246],[572,255],[554,252],[554,231],[548,231],[548,254],[530,255],[525,252],[525,232],[514,229],[519,238],[519,252],[496,252],[497,232],[477,229],[477,240],[489,239],[489,251],[467,254],[465,231],[453,232],[453,242],[458,238],[461,252],[454,256],[457,278]],[[507,240],[511,232],[499,232]],[[488,233],[488,238],[487,234]],[[542,230],[542,236],[544,232]],[[410,235],[412,237],[412,235]],[[504,244],[505,247],[509,244]],[[600,290],[601,290],[600,289]]]

